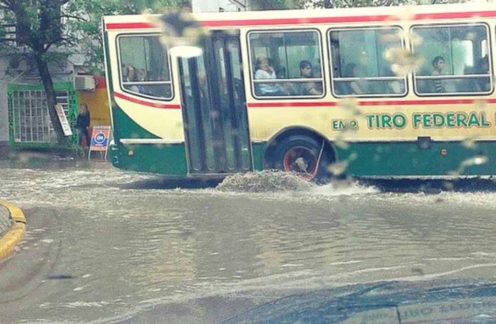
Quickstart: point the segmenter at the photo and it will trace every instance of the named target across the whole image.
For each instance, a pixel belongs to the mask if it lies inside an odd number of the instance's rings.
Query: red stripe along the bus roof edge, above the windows
[[[496,11],[416,14],[411,18],[411,20],[484,18],[484,17],[496,17]],[[405,19],[394,15],[376,15],[376,16],[315,17],[315,18],[242,19],[242,20],[211,20],[211,21],[207,20],[207,21],[201,21],[201,24],[205,27],[222,27],[222,26],[229,27],[229,26],[298,25],[298,24],[324,24],[324,23],[348,23],[348,22],[400,21],[400,20],[405,20]],[[145,22],[108,23],[106,24],[106,28],[107,29],[141,29],[141,28],[157,28],[157,26]]]

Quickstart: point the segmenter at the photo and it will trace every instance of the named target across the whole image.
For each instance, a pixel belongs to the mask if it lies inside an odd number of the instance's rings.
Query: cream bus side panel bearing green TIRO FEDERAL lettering
[[[350,142],[414,141],[423,136],[436,141],[496,137],[495,116],[488,113],[491,109],[474,109],[472,105],[367,106],[360,110],[356,115],[338,106],[250,108],[251,123],[259,125],[251,128],[251,137],[256,142],[266,141],[287,127],[305,127],[331,141]]]

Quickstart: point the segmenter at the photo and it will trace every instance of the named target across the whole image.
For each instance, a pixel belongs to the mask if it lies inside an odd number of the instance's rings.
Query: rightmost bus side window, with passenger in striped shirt
[[[488,94],[492,91],[488,26],[479,24],[418,25],[412,33],[423,38],[412,45],[423,64],[414,74],[419,95]],[[438,64],[442,60],[443,64]]]

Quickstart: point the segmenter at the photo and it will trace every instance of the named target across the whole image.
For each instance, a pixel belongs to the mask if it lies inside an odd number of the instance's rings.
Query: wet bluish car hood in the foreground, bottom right
[[[285,297],[221,322],[496,323],[496,284],[379,282]]]

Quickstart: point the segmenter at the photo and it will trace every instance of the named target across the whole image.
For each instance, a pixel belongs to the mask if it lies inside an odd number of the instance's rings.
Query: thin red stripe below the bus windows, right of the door
[[[441,99],[441,100],[395,100],[395,101],[358,101],[359,106],[414,106],[414,105],[468,105],[475,103],[474,99]],[[495,103],[496,99],[485,100],[487,103]],[[269,107],[325,107],[339,106],[337,101],[329,102],[257,102],[248,103],[251,108]]]

